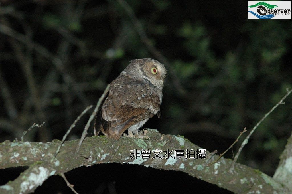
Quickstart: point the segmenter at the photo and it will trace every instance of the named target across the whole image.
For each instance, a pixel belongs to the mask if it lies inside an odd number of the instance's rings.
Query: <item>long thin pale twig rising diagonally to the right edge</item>
[[[273,112],[275,110],[275,108],[277,108],[280,104],[285,104],[283,101],[292,92],[292,89],[289,91],[289,89],[287,88],[286,90],[287,90],[286,95],[267,114],[265,114],[265,116],[262,119],[260,119],[260,121],[253,127],[253,129],[251,130],[251,132],[249,132],[248,136],[246,136],[246,138],[244,139],[244,141],[241,143],[241,146],[240,146],[240,148],[239,148],[239,150],[238,150],[237,154],[235,155],[234,160],[232,162],[230,171],[233,171],[234,164],[237,161],[237,159],[239,157],[239,154],[241,153],[241,150],[248,143],[248,139],[251,136],[251,134],[253,134],[253,131],[256,130],[256,128],[261,124],[261,122],[263,122],[263,120],[265,120],[265,118],[267,118],[267,116],[270,115],[270,113]]]

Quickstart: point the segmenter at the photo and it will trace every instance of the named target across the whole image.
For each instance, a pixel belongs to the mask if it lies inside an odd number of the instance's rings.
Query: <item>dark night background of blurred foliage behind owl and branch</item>
[[[169,74],[161,117],[143,127],[183,135],[218,153],[292,87],[291,20],[247,20],[246,1],[0,2],[0,142],[19,140],[34,122],[45,124],[25,141],[62,139],[136,58],[159,60]],[[274,174],[291,135],[291,99],[258,127],[239,163]],[[91,111],[68,140],[80,138]],[[0,184],[24,170],[1,169]],[[228,193],[182,172],[129,164],[65,175],[79,193]],[[62,177],[53,176],[35,193],[70,192]]]

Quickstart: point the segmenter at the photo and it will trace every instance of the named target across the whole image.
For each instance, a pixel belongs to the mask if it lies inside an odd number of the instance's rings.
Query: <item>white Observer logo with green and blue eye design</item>
[[[248,1],[247,19],[291,19],[291,1]]]

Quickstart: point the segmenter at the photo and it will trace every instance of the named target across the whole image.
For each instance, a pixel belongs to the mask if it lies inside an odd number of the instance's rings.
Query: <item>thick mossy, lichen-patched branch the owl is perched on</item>
[[[155,156],[152,152],[149,159],[141,157],[131,159],[130,150],[202,149],[183,137],[161,135],[156,129],[148,129],[147,135],[150,140],[126,137],[115,140],[106,136],[87,137],[78,153],[75,150],[80,140],[65,141],[60,153],[55,158],[54,154],[60,145],[59,140],[47,143],[4,141],[0,144],[0,169],[18,166],[30,167],[14,181],[0,186],[0,193],[30,193],[54,174],[65,173],[81,166],[113,162],[182,171],[234,193],[291,192],[272,177],[242,164],[236,163],[234,172],[230,173],[228,171],[232,164],[230,159],[222,157],[214,166],[208,167],[207,163],[212,162],[208,159],[213,155],[208,151],[206,152],[207,160],[172,157],[168,159],[164,157],[162,159],[152,158]],[[35,181],[36,178],[39,181]]]

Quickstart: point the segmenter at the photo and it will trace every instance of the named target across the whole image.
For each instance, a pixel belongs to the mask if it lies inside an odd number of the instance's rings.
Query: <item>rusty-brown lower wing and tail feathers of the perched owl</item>
[[[111,121],[106,121],[101,115],[101,131],[107,136],[119,139],[126,129],[150,117],[153,117],[153,114],[147,109],[122,105],[112,117]]]

